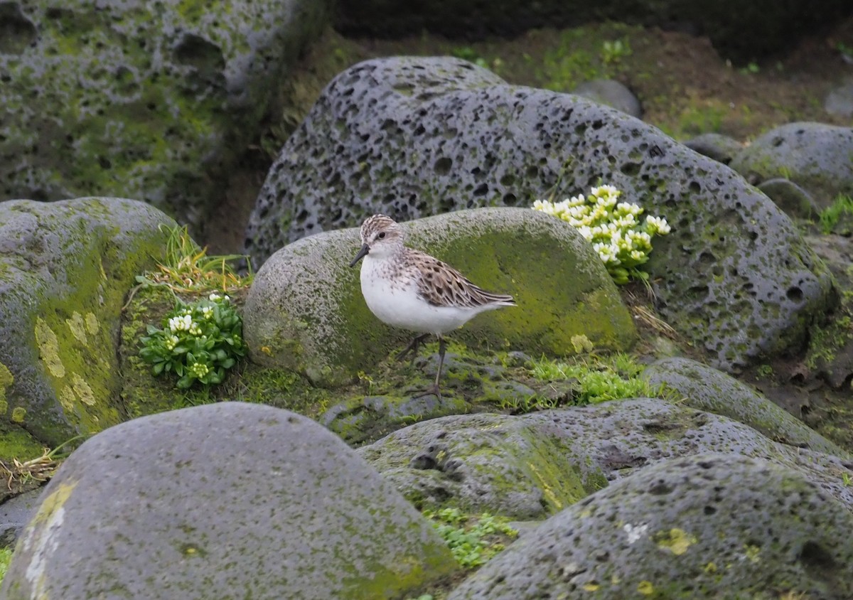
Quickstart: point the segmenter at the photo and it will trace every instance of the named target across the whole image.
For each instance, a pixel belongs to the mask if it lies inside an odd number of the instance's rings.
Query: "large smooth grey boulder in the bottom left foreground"
[[[225,402],[85,442],[44,490],[0,596],[374,600],[455,570],[429,522],[337,436]]]

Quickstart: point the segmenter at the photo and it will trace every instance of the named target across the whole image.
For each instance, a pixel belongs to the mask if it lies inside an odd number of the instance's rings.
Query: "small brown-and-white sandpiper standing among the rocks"
[[[438,384],[446,350],[444,334],[460,328],[480,312],[518,305],[511,295],[487,292],[450,265],[406,246],[403,227],[384,214],[366,218],[360,235],[362,247],[350,266],[363,261],[364,301],[382,323],[419,334],[397,355],[397,360],[403,360],[409,352],[414,360],[422,341],[429,335],[438,338],[435,382],[415,398],[434,394],[441,399]]]

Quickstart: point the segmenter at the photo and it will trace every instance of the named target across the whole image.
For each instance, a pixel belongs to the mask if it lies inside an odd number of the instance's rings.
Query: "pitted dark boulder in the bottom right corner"
[[[763,459],[666,461],[553,516],[450,600],[853,597],[853,514]]]

